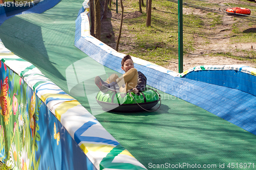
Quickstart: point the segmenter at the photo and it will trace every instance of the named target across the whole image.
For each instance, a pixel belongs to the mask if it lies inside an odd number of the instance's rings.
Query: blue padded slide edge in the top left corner
[[[27,13],[37,13],[40,14],[42,12],[45,12],[46,10],[54,7],[57,5],[61,0],[44,0],[42,2],[39,2],[35,4],[32,8],[28,9],[25,11],[25,9],[21,9],[19,13],[16,13],[14,15],[6,16],[5,9],[4,7],[0,7],[0,26],[2,23],[6,20],[9,19],[15,15],[20,15],[20,14],[27,14]]]

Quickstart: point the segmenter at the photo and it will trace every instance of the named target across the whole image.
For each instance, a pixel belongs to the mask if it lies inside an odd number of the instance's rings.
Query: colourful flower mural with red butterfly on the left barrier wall
[[[41,100],[26,83],[1,62],[0,160],[13,169],[39,167],[36,158]]]

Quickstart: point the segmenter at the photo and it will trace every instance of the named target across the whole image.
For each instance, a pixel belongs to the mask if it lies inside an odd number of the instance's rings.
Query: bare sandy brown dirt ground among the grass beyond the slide
[[[226,6],[224,6],[225,1],[222,0],[216,0],[216,1],[211,1],[207,0],[208,3],[214,2],[215,4],[220,4],[220,10],[226,10]],[[234,3],[234,4],[244,4],[245,2],[237,1],[237,0],[229,0],[229,3]],[[256,6],[256,3],[255,3]],[[206,11],[207,12],[207,11]],[[196,8],[183,8],[183,15],[193,13],[198,16],[205,16],[206,12],[201,9],[196,9]],[[135,18],[139,17],[141,15],[140,12],[135,11],[135,12],[130,12],[130,13],[124,13],[124,19],[125,18]],[[108,37],[108,40],[104,40],[103,42],[111,46],[112,48],[116,49],[116,42],[119,34],[119,27],[120,27],[120,18],[121,18],[121,12],[116,13],[115,10],[109,11],[108,18],[111,19],[102,19],[101,20],[101,37],[106,36]],[[205,18],[205,17],[202,17]],[[210,57],[208,54],[210,53],[236,53],[236,56],[243,57],[243,53],[240,52],[241,50],[249,50],[249,51],[255,51],[256,50],[256,43],[229,43],[230,40],[230,33],[232,30],[232,25],[234,22],[233,16],[229,15],[223,15],[222,17],[223,24],[218,26],[216,29],[212,29],[210,27],[210,22],[209,20],[204,20],[206,28],[202,29],[203,32],[208,33],[209,37],[207,38],[209,43],[203,43],[205,45],[200,45],[201,41],[205,41],[202,37],[195,36],[196,38],[196,44],[194,48],[196,50],[194,52],[190,52],[183,56],[183,71],[199,66],[199,65],[246,65],[246,66],[251,66],[256,68],[256,63],[250,62],[250,61],[242,61],[242,60],[236,60],[228,57]],[[119,44],[119,51],[120,50],[132,50],[134,46],[130,45],[133,44],[135,40],[135,35],[131,35],[130,32],[125,30],[125,23],[123,24],[123,29],[122,29],[122,34],[121,34],[121,41],[122,43]],[[112,29],[113,28],[113,29]],[[254,25],[255,32],[256,32],[256,22]],[[253,28],[253,29],[254,29]],[[245,30],[248,29],[247,26],[244,28]],[[250,28],[251,29],[251,28]],[[113,31],[110,31],[113,30]],[[238,51],[238,49],[240,51]],[[241,53],[241,54],[239,54]],[[255,56],[256,57],[256,56]],[[172,61],[169,62],[169,65],[167,67],[170,70],[178,72],[178,59],[173,59]]]

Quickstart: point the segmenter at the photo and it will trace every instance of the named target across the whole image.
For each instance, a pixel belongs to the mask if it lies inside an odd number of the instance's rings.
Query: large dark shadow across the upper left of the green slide
[[[40,26],[14,16],[0,26],[0,37],[15,55],[46,72],[54,72],[54,76],[61,80],[66,80],[55,68],[55,63],[49,60]]]

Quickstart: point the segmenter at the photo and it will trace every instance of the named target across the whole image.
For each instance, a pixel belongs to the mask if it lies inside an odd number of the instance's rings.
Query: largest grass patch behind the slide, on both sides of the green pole
[[[136,1],[137,2],[137,1]],[[161,66],[178,57],[178,11],[177,4],[168,1],[153,1],[151,27],[145,26],[146,13],[134,19],[126,19],[127,27],[136,34],[134,50],[129,54]],[[143,8],[145,10],[145,8]],[[183,50],[194,51],[194,34],[200,34],[204,22],[193,14],[183,15]],[[123,53],[127,53],[122,51]]]

